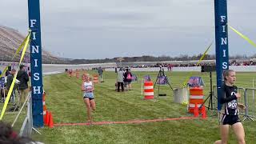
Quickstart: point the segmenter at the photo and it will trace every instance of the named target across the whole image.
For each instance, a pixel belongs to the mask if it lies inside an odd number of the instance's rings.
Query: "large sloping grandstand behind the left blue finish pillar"
[[[2,62],[18,62],[19,56],[12,60],[18,46],[22,44],[25,36],[20,34],[18,30],[10,27],[0,26],[0,61]],[[26,50],[26,57],[30,59],[30,49]],[[66,58],[58,58],[50,54],[46,50],[42,50],[42,63],[68,63]]]

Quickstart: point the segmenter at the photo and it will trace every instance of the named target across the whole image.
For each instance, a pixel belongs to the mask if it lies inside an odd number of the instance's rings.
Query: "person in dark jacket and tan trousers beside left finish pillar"
[[[24,65],[19,66],[17,79],[19,81],[18,90],[20,90],[20,100],[19,106],[22,106],[25,102],[26,96],[29,93],[29,86],[27,82],[29,82],[29,75],[26,73],[26,67]]]

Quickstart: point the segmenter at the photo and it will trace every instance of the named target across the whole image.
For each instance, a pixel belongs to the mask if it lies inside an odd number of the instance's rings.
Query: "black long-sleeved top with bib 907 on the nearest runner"
[[[222,112],[224,114],[238,115],[238,100],[235,94],[238,92],[237,86],[222,86],[222,97],[220,103],[222,106]]]

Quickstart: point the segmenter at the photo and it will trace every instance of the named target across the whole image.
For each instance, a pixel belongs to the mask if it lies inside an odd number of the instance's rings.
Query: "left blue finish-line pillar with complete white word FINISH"
[[[32,87],[33,126],[43,126],[42,114],[42,45],[39,0],[28,0],[29,26],[31,30],[30,67]]]

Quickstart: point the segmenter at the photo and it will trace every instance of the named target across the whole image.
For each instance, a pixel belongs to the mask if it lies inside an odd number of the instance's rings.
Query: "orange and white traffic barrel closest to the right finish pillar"
[[[204,95],[203,95],[202,87],[195,86],[190,88],[190,103],[188,107],[188,110],[190,113],[194,113],[194,108],[196,104],[199,110],[199,107],[202,106],[203,98],[204,98]]]

